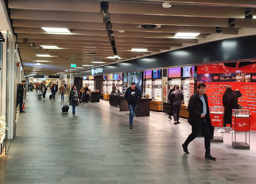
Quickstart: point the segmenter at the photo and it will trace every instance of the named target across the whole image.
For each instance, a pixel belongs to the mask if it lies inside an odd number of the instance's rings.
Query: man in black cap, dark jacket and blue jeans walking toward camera
[[[130,120],[130,128],[133,128],[132,122],[134,113],[137,107],[137,104],[139,103],[140,99],[142,98],[142,95],[140,93],[139,88],[135,87],[136,84],[134,82],[131,83],[131,87],[129,87],[124,95],[125,100],[128,102],[129,107],[129,120]]]

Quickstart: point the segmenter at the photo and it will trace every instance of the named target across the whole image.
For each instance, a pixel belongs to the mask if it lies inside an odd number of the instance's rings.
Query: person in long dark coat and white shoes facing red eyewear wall
[[[226,127],[227,124],[230,124],[230,127],[232,126],[232,109],[238,109],[238,101],[237,98],[242,96],[241,92],[232,90],[231,85],[226,86],[226,91],[222,97],[223,106],[224,109],[224,127]],[[219,129],[217,132],[225,132],[224,128]],[[232,133],[232,130],[230,130],[230,133]]]

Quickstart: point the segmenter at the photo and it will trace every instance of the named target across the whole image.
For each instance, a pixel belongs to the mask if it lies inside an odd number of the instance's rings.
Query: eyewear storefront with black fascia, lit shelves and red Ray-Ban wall
[[[254,125],[256,110],[254,110],[253,105],[253,95],[256,94],[254,93],[256,91],[253,88],[247,89],[247,85],[253,85],[254,80],[256,80],[256,75],[254,75],[256,73],[254,63],[256,53],[253,49],[255,43],[256,36],[203,43],[102,66],[102,72],[97,73],[94,77],[101,77],[103,82],[106,81],[106,84],[111,86],[111,83],[113,84],[113,75],[117,74],[119,76],[121,74],[122,79],[119,82],[122,82],[122,93],[125,92],[124,89],[129,87],[130,82],[137,81],[137,87],[140,87],[141,84],[143,96],[152,99],[151,109],[167,113],[170,112],[168,107],[170,103],[167,99],[168,93],[173,85],[179,85],[185,97],[182,107],[184,108],[183,117],[188,116],[186,107],[190,96],[197,90],[197,82],[205,82],[207,84],[206,94],[208,96],[215,95],[212,93],[221,93],[218,95],[221,97],[216,97],[216,100],[213,100],[215,97],[209,97],[209,106],[212,107],[222,105],[223,87],[226,83],[232,82],[230,85],[234,85],[233,88],[239,88],[243,93],[242,98],[239,100],[242,102],[243,107],[250,110],[253,116],[251,118],[251,130],[256,131],[256,126]],[[237,62],[239,63],[237,64]],[[74,75],[75,77],[92,75],[92,69],[75,72]],[[118,80],[116,81],[118,82]],[[241,81],[240,84],[238,84],[238,81]],[[211,89],[209,88],[210,85],[212,85]],[[102,90],[102,92],[108,93],[110,90],[107,91],[107,88],[108,85],[106,85],[106,90]],[[244,101],[243,98],[245,98]]]

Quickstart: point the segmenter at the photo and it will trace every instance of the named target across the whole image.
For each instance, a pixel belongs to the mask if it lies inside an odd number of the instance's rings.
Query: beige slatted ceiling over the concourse
[[[163,8],[161,0],[8,0],[24,72],[27,76],[75,72],[196,44],[209,34],[238,35],[239,28],[256,28],[255,0],[167,2],[172,7]],[[140,24],[161,27],[141,29]],[[70,33],[52,34],[41,27],[67,28]],[[200,34],[177,38],[178,32]],[[108,58],[116,55],[120,58]]]

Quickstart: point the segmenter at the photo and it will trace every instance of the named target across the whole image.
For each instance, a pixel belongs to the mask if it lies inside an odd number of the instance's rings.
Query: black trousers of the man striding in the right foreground
[[[187,140],[184,142],[184,145],[187,147],[191,141],[197,137],[197,133],[201,128],[202,133],[205,137],[205,155],[210,154],[210,123],[206,123],[203,118],[201,122],[197,125],[192,125],[192,133],[188,136]]]

